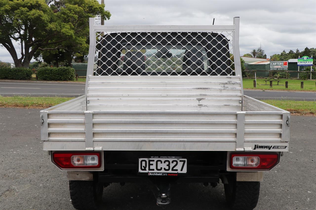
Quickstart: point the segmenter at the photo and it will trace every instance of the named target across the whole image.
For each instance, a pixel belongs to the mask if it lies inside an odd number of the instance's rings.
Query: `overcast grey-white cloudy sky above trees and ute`
[[[112,14],[105,25],[211,25],[213,18],[215,25],[232,25],[233,17],[240,17],[240,55],[260,43],[267,57],[316,47],[315,0],[105,0],[105,4]],[[13,62],[4,47],[0,60]]]

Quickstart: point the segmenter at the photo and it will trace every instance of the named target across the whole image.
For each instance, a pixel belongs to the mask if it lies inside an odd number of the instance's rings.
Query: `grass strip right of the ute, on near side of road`
[[[291,100],[262,100],[278,108],[293,114],[316,115],[316,102],[314,101],[291,101]]]

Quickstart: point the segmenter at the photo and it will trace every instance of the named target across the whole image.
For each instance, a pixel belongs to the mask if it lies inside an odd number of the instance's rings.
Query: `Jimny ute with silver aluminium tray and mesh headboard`
[[[175,183],[221,180],[231,209],[256,207],[263,172],[289,149],[290,114],[243,95],[239,17],[225,26],[89,21],[85,95],[40,112],[44,150],[67,171],[73,206],[102,206],[111,183],[153,183],[165,206]]]

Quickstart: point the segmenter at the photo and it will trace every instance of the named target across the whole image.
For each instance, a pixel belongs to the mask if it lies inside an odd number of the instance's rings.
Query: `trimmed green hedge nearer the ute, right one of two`
[[[39,80],[70,81],[75,77],[75,69],[70,67],[43,67],[37,70]]]

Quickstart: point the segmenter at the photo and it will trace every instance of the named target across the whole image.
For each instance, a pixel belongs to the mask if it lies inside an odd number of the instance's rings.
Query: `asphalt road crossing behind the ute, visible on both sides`
[[[5,82],[0,80],[2,96],[61,96],[77,97],[84,94],[84,83],[55,82]],[[256,99],[289,99],[316,101],[316,92],[244,90],[244,94]]]

